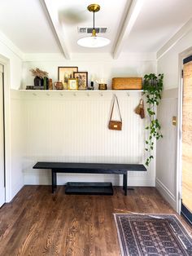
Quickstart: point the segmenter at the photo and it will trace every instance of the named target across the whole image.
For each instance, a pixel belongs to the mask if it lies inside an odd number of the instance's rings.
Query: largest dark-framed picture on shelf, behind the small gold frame
[[[58,81],[63,83],[63,89],[68,89],[68,79],[73,78],[73,72],[78,72],[78,67],[58,67]]]

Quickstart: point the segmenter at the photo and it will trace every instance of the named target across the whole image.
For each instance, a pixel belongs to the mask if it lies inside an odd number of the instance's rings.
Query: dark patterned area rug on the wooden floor
[[[123,256],[192,255],[192,239],[174,214],[114,214]]]

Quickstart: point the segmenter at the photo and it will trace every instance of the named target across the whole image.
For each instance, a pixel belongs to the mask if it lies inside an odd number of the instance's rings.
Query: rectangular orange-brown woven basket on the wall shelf
[[[112,90],[141,90],[142,77],[114,77]]]

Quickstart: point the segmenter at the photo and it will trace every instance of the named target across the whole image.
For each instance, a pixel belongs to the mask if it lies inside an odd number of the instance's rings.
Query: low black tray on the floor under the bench
[[[113,195],[112,183],[68,182],[65,193],[70,195]]]

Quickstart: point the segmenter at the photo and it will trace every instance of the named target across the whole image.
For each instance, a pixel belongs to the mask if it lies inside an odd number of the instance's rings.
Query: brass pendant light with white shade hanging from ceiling
[[[100,6],[98,4],[90,4],[87,9],[95,13],[100,10]],[[98,37],[95,28],[93,28],[91,37],[81,38],[77,41],[77,44],[89,48],[98,48],[107,46],[110,42],[107,38]]]

